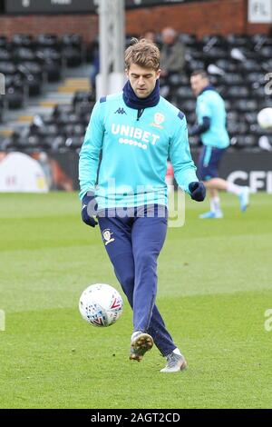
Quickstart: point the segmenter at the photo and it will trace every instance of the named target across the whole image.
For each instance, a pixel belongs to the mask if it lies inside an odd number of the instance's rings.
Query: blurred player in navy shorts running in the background
[[[199,156],[198,174],[209,190],[210,211],[199,218],[222,218],[219,190],[238,196],[240,209],[246,211],[249,203],[249,188],[228,183],[219,178],[219,163],[229,145],[226,129],[225,104],[214,87],[209,84],[206,71],[194,71],[190,77],[193,93],[197,96],[198,124],[189,130],[189,136],[200,135],[202,149]]]

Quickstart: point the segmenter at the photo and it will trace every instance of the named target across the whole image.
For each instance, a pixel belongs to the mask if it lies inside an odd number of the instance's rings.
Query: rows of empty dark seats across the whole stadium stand
[[[127,40],[129,37],[127,37]],[[181,34],[186,46],[184,74],[170,74],[160,79],[161,94],[176,104],[194,124],[195,98],[189,86],[189,75],[196,68],[209,71],[211,83],[226,101],[228,132],[231,144],[238,149],[257,149],[264,131],[257,125],[257,112],[272,106],[266,94],[266,74],[272,65],[272,38],[269,35],[194,35]],[[160,42],[160,40],[159,40]],[[46,78],[61,78],[65,66],[81,65],[86,46],[78,35],[15,35],[6,43],[0,37],[0,72],[6,75],[6,97],[9,108],[24,103],[28,94],[37,94]],[[28,95],[27,94],[27,95]],[[57,105],[50,116],[35,117],[34,123],[0,142],[5,150],[79,150],[95,102],[93,93],[77,92],[72,104]],[[0,104],[0,115],[1,108]],[[272,133],[267,132],[270,140]],[[198,145],[197,138],[191,139]]]

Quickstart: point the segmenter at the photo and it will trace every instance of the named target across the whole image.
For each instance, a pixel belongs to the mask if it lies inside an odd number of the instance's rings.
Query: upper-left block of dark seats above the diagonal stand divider
[[[78,66],[84,58],[79,35],[0,35],[0,73],[5,74],[8,108],[20,108],[28,95],[40,94],[44,82],[61,79],[65,66]],[[24,88],[24,90],[22,89]]]

